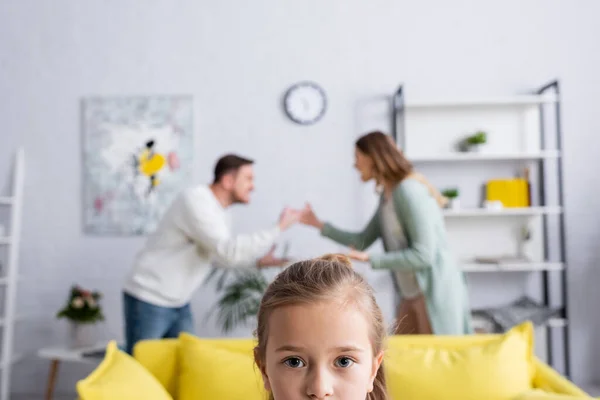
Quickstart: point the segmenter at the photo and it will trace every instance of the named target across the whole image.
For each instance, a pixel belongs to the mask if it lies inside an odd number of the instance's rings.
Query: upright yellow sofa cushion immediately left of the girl
[[[179,335],[178,400],[265,400],[252,339],[200,339]]]

